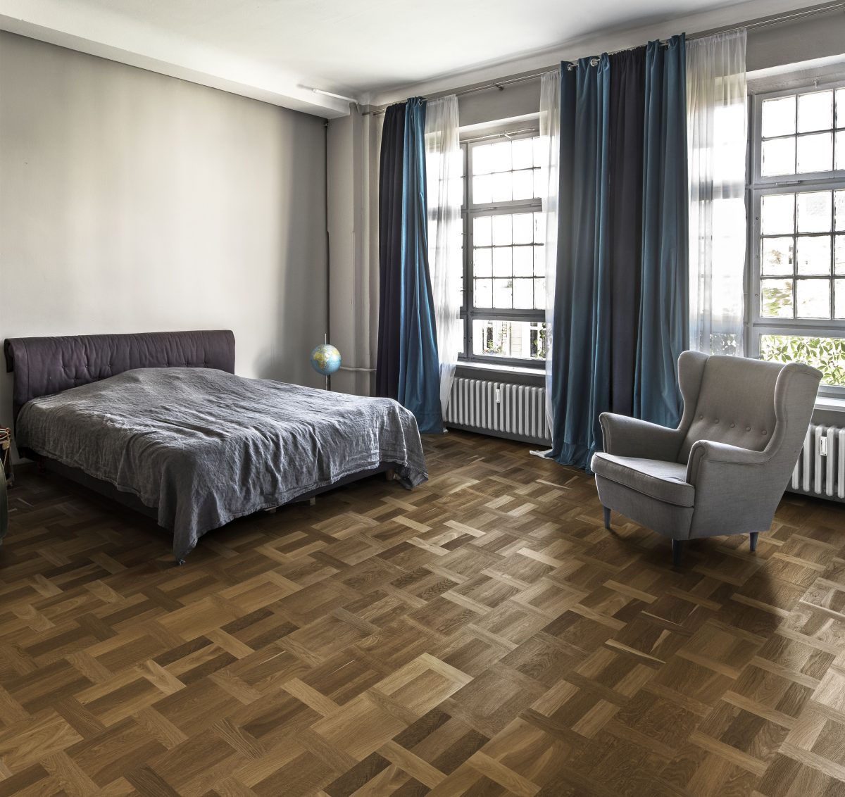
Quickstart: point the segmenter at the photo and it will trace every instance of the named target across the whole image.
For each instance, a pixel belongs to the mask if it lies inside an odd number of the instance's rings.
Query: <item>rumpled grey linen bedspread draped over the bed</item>
[[[138,368],[33,399],[17,441],[157,507],[177,561],[210,529],[380,463],[409,488],[428,478],[396,401],[213,368]]]

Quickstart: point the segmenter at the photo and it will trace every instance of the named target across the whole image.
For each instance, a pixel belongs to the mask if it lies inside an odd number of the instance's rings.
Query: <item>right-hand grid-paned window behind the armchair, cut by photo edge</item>
[[[750,351],[845,394],[845,86],[755,97]]]

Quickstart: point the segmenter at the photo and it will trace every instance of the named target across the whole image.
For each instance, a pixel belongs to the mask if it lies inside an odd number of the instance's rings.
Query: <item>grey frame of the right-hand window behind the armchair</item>
[[[755,92],[750,96],[750,124],[749,124],[749,183],[747,187],[747,202],[750,210],[750,226],[748,235],[748,251],[746,261],[750,264],[747,277],[747,291],[750,301],[746,303],[746,340],[745,350],[750,357],[760,358],[760,338],[765,335],[785,335],[796,337],[835,337],[845,338],[845,320],[842,319],[782,319],[767,318],[760,314],[760,281],[762,263],[760,258],[762,242],[762,222],[760,210],[764,196],[771,194],[804,194],[812,191],[836,191],[845,189],[845,169],[831,169],[830,172],[802,172],[785,175],[764,176],[762,174],[762,116],[763,101],[775,100],[785,96],[799,96],[812,91],[824,91],[845,88],[845,79],[836,79],[822,83],[820,80],[806,80],[792,85],[788,89]],[[833,131],[836,131],[836,106],[834,106]],[[797,130],[797,126],[796,126]],[[826,132],[826,131],[820,131]],[[834,132],[835,136],[835,132]],[[796,140],[799,135],[795,136]],[[835,150],[834,150],[835,157]],[[833,161],[835,165],[836,161]],[[797,235],[793,232],[793,237]],[[831,243],[835,243],[836,231],[831,229]],[[797,252],[793,254],[797,257]],[[831,253],[832,257],[832,253]],[[799,276],[797,264],[793,276],[789,279],[796,284],[803,279],[818,279],[819,275]],[[837,275],[832,272],[831,259],[831,303],[834,301],[833,290]],[[772,277],[775,278],[775,277]],[[831,313],[832,315],[832,313]],[[845,399],[845,386],[819,386],[819,396]]]

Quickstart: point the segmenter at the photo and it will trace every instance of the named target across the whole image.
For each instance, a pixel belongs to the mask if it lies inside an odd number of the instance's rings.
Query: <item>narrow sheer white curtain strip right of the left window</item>
[[[560,70],[540,76],[542,210],[546,214],[546,417],[552,426],[552,316],[558,271],[558,174],[560,162]]]

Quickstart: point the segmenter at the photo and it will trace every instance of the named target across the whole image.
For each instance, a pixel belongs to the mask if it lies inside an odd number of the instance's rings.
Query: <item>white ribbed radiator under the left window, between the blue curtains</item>
[[[446,426],[551,445],[546,420],[546,389],[487,379],[452,382]]]

